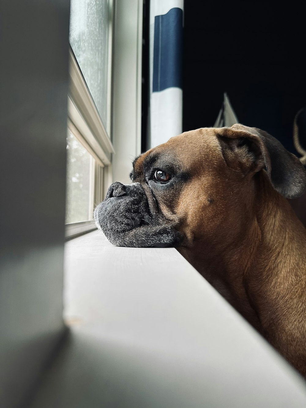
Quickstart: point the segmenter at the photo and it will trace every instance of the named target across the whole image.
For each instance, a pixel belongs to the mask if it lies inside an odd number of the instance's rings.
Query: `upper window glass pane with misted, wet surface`
[[[106,128],[108,0],[71,0],[69,40]]]

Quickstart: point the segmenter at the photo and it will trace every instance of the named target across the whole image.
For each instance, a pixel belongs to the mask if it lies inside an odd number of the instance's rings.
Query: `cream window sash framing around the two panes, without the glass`
[[[115,153],[111,142],[112,118],[112,62],[113,62],[113,16],[114,1],[109,0],[108,55],[107,55],[107,127],[105,129],[98,110],[89,92],[82,71],[72,48],[69,50],[69,94],[67,127],[95,159],[94,206],[101,202],[112,183],[112,155]],[[71,239],[95,229],[93,220],[65,225],[65,237]]]

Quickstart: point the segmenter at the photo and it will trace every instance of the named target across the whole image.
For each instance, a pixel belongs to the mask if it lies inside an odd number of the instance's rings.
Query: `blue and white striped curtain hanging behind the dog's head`
[[[150,2],[150,136],[148,147],[182,133],[184,0]]]

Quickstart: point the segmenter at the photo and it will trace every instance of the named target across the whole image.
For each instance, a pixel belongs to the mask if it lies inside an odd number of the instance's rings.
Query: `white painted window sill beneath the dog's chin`
[[[33,408],[304,407],[304,381],[174,248],[66,243],[71,340]]]

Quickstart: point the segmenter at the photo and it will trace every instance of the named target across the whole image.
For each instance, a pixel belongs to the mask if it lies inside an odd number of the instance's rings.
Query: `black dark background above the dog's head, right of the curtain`
[[[184,2],[183,131],[213,126],[227,92],[240,123],[295,152],[306,105],[305,8],[293,2]]]

